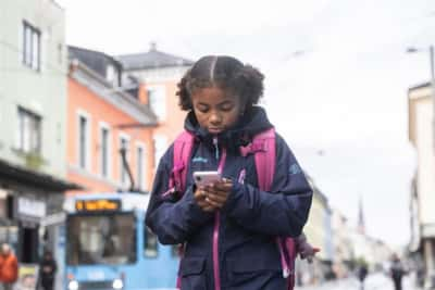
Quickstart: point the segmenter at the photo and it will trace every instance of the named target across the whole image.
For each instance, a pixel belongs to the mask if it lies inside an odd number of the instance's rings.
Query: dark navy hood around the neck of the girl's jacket
[[[238,150],[240,146],[249,143],[253,136],[273,126],[269,122],[264,109],[261,106],[253,106],[249,113],[243,115],[232,128],[220,133],[217,136],[211,135],[207,129],[199,126],[194,111],[187,114],[184,127],[197,139],[207,144],[212,146],[213,138],[217,137],[220,144],[225,146],[228,150]]]

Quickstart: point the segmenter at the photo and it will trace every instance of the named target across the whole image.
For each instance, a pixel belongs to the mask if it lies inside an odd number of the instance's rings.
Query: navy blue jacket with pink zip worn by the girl
[[[271,128],[265,112],[254,108],[233,129],[212,136],[198,126],[190,112],[185,129],[196,136],[187,174],[186,191],[165,194],[173,168],[173,146],[161,159],[147,211],[146,223],[164,244],[185,243],[179,275],[183,290],[215,290],[213,232],[217,241],[221,289],[284,290],[279,251],[275,237],[298,237],[307,222],[312,190],[288,146],[276,135],[276,168],[271,192],[258,189],[253,155],[244,157],[239,147]],[[222,176],[233,189],[219,214],[203,212],[194,199],[192,173],[216,171],[223,149],[227,156]],[[238,182],[241,171],[245,182]],[[215,220],[216,217],[219,222]],[[217,225],[217,226],[216,226]]]

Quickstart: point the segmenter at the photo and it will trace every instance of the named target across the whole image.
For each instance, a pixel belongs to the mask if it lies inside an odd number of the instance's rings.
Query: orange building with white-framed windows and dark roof
[[[110,55],[76,47],[70,47],[69,53],[67,179],[86,192],[149,191],[157,118],[140,102],[138,81]],[[121,149],[126,152],[133,186]]]

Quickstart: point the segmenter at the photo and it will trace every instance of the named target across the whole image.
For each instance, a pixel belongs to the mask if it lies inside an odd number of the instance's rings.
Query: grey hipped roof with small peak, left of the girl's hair
[[[119,55],[116,59],[123,64],[126,71],[190,66],[194,64],[191,60],[159,51],[154,46],[148,52]]]

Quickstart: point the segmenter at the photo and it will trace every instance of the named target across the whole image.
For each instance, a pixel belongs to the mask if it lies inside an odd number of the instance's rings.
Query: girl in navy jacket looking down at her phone
[[[275,238],[301,235],[312,191],[279,135],[270,192],[259,189],[253,154],[240,153],[273,127],[256,105],[263,75],[234,58],[211,55],[196,62],[178,88],[179,105],[189,111],[185,129],[195,136],[186,190],[169,188],[171,146],[156,173],[146,222],[160,242],[185,245],[181,288],[286,289]],[[217,168],[222,180],[195,186],[194,172]]]

